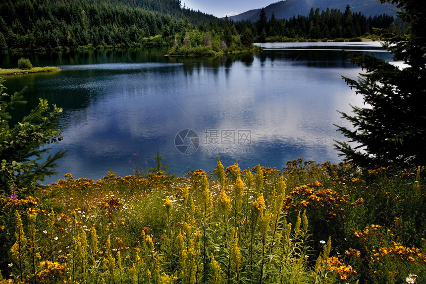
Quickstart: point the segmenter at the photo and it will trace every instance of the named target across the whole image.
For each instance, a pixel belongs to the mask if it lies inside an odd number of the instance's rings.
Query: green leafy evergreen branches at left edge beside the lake
[[[47,100],[40,99],[39,105],[16,125],[10,125],[9,110],[26,103],[22,92],[9,96],[4,93],[3,79],[0,78],[0,190],[8,194],[13,184],[22,190],[32,186],[37,180],[55,174],[55,161],[65,156],[59,151],[53,156],[45,144],[62,139],[62,131],[57,122],[61,108],[53,106],[50,110]],[[48,157],[44,157],[49,154]]]

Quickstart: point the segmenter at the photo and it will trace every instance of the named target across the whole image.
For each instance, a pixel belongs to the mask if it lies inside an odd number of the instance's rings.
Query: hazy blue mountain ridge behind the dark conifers
[[[366,16],[374,16],[387,14],[395,16],[396,12],[389,9],[385,4],[380,4],[377,0],[282,0],[276,3],[272,3],[265,7],[266,17],[269,19],[272,15],[272,12],[275,15],[275,18],[285,18],[288,19],[295,15],[307,16],[311,7],[314,10],[319,7],[320,11],[330,9],[340,9],[340,11],[345,11],[346,5],[349,5],[352,12],[361,12],[361,14]],[[389,7],[395,9],[395,6],[388,5]],[[246,11],[244,13],[230,16],[229,19],[234,21],[240,20],[250,20],[252,22],[259,19],[261,8],[253,9]]]

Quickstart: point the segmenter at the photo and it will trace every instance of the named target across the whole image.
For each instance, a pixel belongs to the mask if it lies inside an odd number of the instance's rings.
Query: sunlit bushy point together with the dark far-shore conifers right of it
[[[400,25],[400,24],[399,24]],[[253,42],[305,41],[305,40],[361,40],[361,36],[374,33],[373,28],[402,29],[386,14],[366,17],[352,13],[347,6],[344,13],[326,9],[320,13],[312,8],[308,16],[269,20],[262,9],[256,22],[229,20],[227,17],[210,25],[198,24],[185,33],[177,33],[170,55],[213,55],[253,50]]]

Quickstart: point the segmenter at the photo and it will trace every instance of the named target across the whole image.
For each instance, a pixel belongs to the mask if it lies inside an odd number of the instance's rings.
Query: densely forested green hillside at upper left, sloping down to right
[[[150,37],[167,38],[190,23],[214,20],[181,8],[178,0],[7,0],[0,2],[0,52],[130,46],[144,39],[150,44]]]

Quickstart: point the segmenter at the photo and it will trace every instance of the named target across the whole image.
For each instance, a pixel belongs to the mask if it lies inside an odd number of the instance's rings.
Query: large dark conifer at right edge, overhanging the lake
[[[381,31],[387,38],[386,49],[406,65],[398,67],[369,55],[352,57],[366,73],[358,80],[345,81],[364,97],[368,107],[353,107],[354,115],[341,113],[354,130],[337,126],[338,130],[356,145],[336,141],[335,146],[348,161],[361,167],[425,167],[426,16],[418,12],[425,6],[412,0],[386,2],[402,8],[399,16],[411,25],[409,35]]]

